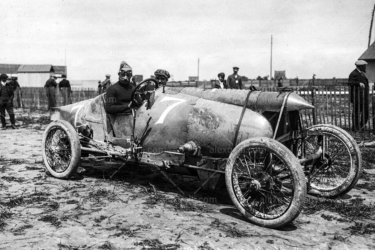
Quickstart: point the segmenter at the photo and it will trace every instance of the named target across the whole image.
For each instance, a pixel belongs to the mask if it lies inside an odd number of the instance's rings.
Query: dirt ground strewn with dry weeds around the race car
[[[48,118],[17,109],[20,128],[0,130],[0,249],[375,248],[375,146],[361,146],[353,190],[336,200],[309,196],[276,230],[246,222],[225,189],[199,189],[195,177],[84,160],[71,180],[53,178],[41,155]]]

